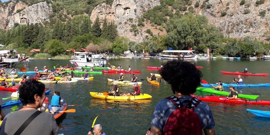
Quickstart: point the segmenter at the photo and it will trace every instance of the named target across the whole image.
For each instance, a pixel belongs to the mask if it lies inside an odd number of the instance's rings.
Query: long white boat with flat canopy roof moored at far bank
[[[178,56],[184,58],[184,60],[196,60],[198,55],[194,54],[195,50],[164,50],[164,54],[161,55],[162,59],[178,59]]]

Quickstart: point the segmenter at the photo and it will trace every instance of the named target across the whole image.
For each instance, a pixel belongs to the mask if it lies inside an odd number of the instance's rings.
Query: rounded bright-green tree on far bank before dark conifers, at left
[[[52,39],[45,42],[44,52],[51,54],[52,56],[65,53],[66,45],[57,39]]]

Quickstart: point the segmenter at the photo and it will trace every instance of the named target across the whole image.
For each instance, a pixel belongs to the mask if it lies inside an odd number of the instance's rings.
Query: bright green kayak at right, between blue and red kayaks
[[[202,88],[202,87],[198,87],[196,89],[197,91],[203,91],[203,92],[208,92],[208,93],[214,93],[217,95],[225,95],[228,96],[229,92],[226,91],[217,91],[213,88]],[[238,98],[248,98],[248,99],[256,99],[257,97],[259,97],[259,95],[243,95],[243,94],[238,94]]]

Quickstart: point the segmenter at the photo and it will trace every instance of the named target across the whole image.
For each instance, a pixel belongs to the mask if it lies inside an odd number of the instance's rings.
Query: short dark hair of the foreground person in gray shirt
[[[34,95],[37,94],[41,97],[44,91],[45,85],[43,83],[29,79],[19,87],[19,99],[23,105],[32,104],[35,102]]]

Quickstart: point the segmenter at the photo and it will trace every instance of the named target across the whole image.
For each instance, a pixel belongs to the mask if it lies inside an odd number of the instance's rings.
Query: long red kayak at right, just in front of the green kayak
[[[195,95],[191,95],[196,97]],[[257,104],[257,105],[270,105],[270,101],[266,100],[247,100],[245,98],[237,98],[237,99],[227,99],[226,97],[222,96],[203,96],[203,97],[196,97],[202,101],[210,101],[210,102],[224,102],[224,103],[240,103],[240,104]],[[226,100],[225,100],[226,99]]]

